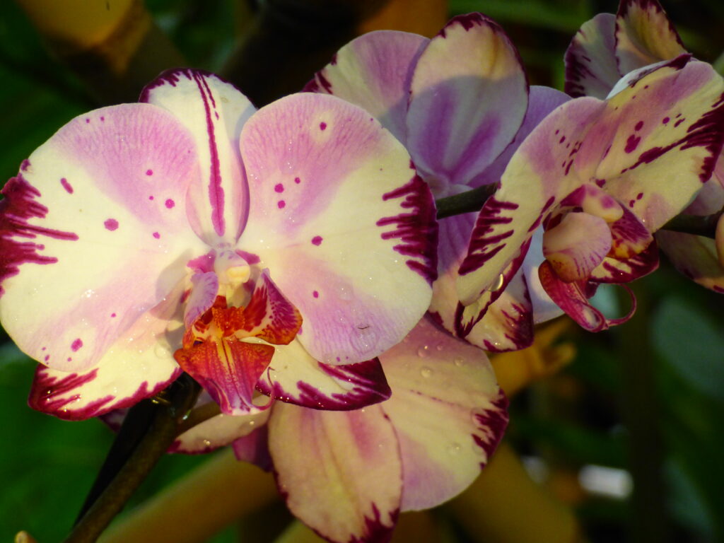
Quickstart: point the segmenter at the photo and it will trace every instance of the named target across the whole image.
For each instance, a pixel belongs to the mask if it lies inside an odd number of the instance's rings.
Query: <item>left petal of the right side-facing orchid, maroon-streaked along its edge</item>
[[[521,247],[529,243],[544,216],[580,186],[571,169],[572,157],[589,130],[589,122],[604,108],[605,103],[596,98],[568,101],[521,143],[505,169],[500,189],[488,198],[476,219],[468,255],[458,271],[458,295],[463,305],[475,303],[484,292],[498,288],[500,271],[521,256]],[[505,282],[500,285],[504,287]]]

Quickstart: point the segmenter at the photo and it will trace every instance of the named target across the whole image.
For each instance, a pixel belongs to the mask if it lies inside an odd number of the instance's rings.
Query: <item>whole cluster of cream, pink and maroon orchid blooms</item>
[[[210,416],[172,451],[233,445],[329,541],[387,541],[500,441],[486,350],[562,311],[626,321],[589,298],[656,269],[657,243],[724,290],[715,240],[661,230],[724,205],[724,82],[655,0],[581,28],[567,93],[529,86],[481,14],[363,35],[304,90],[257,110],[164,72],[23,162],[0,319],[40,362],[33,408],[112,426],[185,372]],[[486,188],[436,221],[434,198]]]

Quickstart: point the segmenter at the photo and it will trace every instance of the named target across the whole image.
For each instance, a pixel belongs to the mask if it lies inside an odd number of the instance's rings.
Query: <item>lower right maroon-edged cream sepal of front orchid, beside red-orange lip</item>
[[[323,364],[298,341],[275,348],[256,389],[284,402],[333,411],[363,408],[390,397],[376,359],[342,366]]]

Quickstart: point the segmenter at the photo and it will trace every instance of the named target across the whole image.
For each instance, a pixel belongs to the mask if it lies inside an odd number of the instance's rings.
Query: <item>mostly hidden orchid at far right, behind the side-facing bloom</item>
[[[620,77],[649,64],[686,53],[673,24],[657,0],[622,0],[618,13],[598,14],[584,23],[565,54],[565,90],[571,96],[605,98]],[[724,208],[724,160],[684,210],[714,214]],[[724,292],[724,266],[709,237],[660,231],[659,247],[687,277]]]

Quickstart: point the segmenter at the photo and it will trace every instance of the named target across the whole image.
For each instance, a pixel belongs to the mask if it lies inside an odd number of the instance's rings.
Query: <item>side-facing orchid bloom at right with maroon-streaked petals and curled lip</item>
[[[592,331],[626,320],[607,319],[589,296],[655,269],[652,232],[709,180],[723,137],[724,82],[686,54],[631,73],[605,100],[563,104],[521,144],[481,210],[460,300],[499,289],[500,269],[513,272],[542,224],[539,277],[550,297]]]

